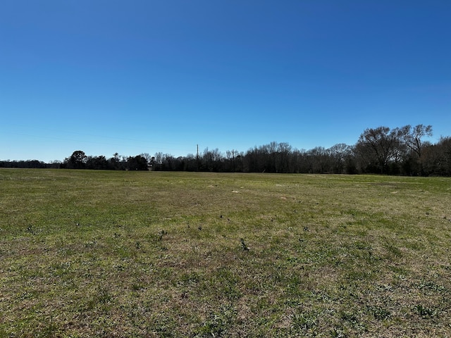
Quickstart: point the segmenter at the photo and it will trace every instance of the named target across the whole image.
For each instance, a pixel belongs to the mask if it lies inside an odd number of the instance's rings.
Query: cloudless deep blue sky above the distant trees
[[[1,0],[0,159],[451,136],[450,0]]]

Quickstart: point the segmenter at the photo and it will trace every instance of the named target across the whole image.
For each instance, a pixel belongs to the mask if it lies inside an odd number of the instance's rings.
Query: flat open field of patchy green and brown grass
[[[0,170],[0,337],[451,337],[451,180]]]

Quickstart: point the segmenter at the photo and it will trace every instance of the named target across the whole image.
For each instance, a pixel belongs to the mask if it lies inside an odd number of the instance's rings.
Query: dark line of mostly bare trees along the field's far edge
[[[204,149],[201,154],[174,157],[157,152],[154,156],[87,156],[74,151],[61,163],[0,161],[10,168],[68,168],[97,170],[209,171],[229,173],[377,173],[383,175],[451,176],[451,137],[432,144],[431,125],[376,127],[362,132],[357,143],[335,144],[328,149],[295,149],[286,142],[271,142],[243,152]]]

